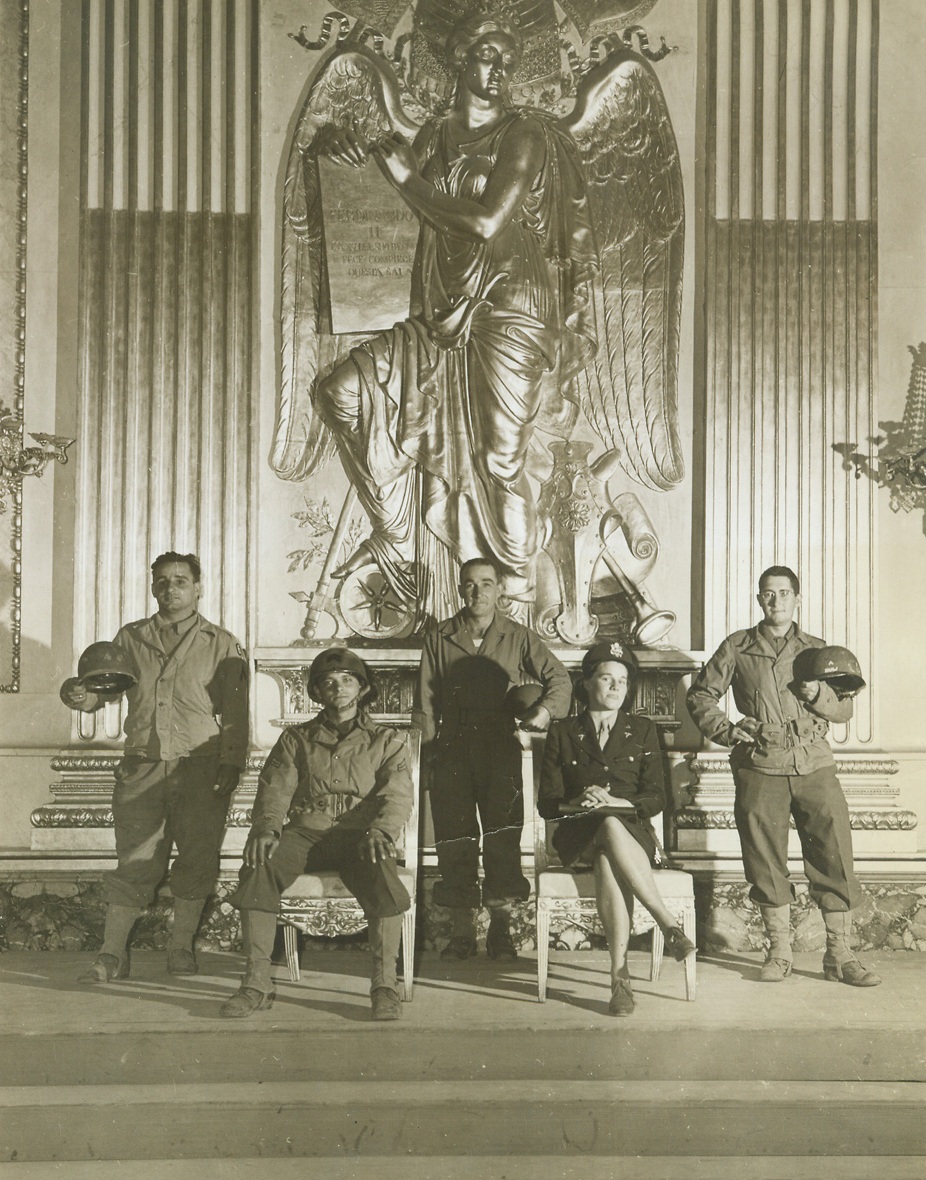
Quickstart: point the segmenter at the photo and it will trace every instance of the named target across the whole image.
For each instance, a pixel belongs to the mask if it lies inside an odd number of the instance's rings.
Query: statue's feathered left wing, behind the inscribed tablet
[[[331,336],[323,322],[324,255],[317,149],[328,126],[350,126],[375,143],[418,125],[399,100],[389,65],[365,46],[341,48],[313,83],[293,136],[283,182],[281,254],[281,374],[270,466],[282,479],[306,479],[330,458],[334,442],[315,413],[320,361],[336,363],[355,342]]]

